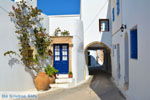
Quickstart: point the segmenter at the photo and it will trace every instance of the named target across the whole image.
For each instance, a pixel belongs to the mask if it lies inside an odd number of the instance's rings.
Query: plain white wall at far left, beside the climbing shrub
[[[25,71],[25,67],[22,64],[11,67],[8,64],[11,58],[3,55],[6,51],[19,49],[15,27],[8,16],[13,4],[10,0],[0,0],[0,91],[34,89],[32,77]]]

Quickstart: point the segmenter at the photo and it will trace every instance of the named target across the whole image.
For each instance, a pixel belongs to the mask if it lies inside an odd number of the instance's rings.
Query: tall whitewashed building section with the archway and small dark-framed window
[[[102,67],[102,69],[111,73],[110,10],[109,0],[81,0],[80,16],[83,22],[86,68],[99,69]],[[100,57],[98,56],[100,51],[104,54],[103,66],[101,66]],[[93,58],[93,60],[90,60],[90,58]]]

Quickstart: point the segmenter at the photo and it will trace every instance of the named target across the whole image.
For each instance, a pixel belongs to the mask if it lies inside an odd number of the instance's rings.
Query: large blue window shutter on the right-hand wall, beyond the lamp
[[[137,28],[130,30],[131,58],[138,59],[138,36]]]

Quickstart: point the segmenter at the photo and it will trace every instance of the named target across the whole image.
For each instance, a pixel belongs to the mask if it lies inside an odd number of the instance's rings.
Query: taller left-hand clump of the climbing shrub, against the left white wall
[[[17,6],[12,6],[12,9],[13,11],[9,13],[9,16],[16,27],[15,32],[19,39],[21,60],[25,66],[31,69],[32,64],[34,64],[34,56],[30,45],[30,35],[32,34],[33,26],[41,20],[41,18],[37,18],[37,20],[33,19],[40,15],[41,11],[28,6],[24,0],[17,2]]]

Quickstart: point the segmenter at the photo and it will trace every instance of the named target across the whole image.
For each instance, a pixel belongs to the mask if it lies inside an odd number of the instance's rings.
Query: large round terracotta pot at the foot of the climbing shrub
[[[34,83],[37,90],[48,90],[50,80],[45,72],[40,72],[34,79]]]

